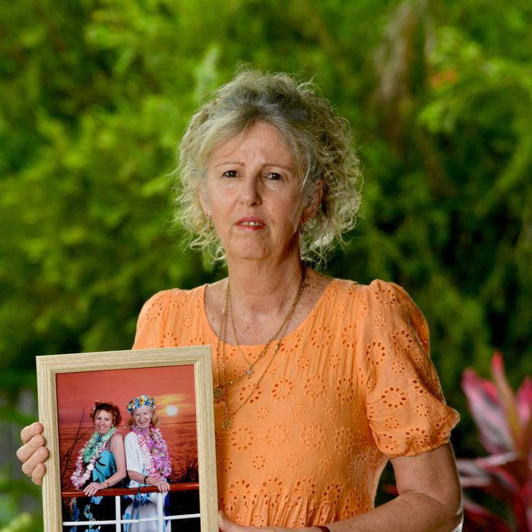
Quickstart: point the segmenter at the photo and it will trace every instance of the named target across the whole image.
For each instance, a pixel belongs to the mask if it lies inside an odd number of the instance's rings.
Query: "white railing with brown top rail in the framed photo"
[[[197,482],[187,482],[181,484],[170,484],[170,492],[176,491],[197,491],[199,484]],[[157,517],[143,517],[141,519],[123,519],[121,497],[123,495],[137,495],[139,493],[157,493]],[[64,490],[61,492],[62,497],[65,499],[72,499],[73,497],[85,497],[85,494],[80,490]],[[164,532],[165,521],[176,521],[184,519],[199,519],[199,513],[187,513],[179,515],[164,515],[163,508],[163,493],[159,493],[155,486],[142,486],[140,488],[109,488],[108,490],[100,490],[96,494],[98,497],[114,497],[114,519],[105,521],[85,520],[85,521],[63,521],[63,528],[65,526],[85,526],[91,524],[92,526],[98,526],[100,524],[114,524],[116,532],[122,532],[122,525],[134,524],[142,522],[157,522],[157,532]]]

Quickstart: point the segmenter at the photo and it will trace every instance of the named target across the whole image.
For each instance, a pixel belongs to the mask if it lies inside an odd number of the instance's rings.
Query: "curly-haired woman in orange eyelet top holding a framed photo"
[[[442,531],[461,521],[423,315],[397,285],[305,267],[355,223],[348,125],[311,85],[244,71],[193,116],[177,213],[228,277],[159,292],[135,348],[213,346],[220,530]],[[21,459],[42,476],[39,425]],[[398,497],[373,507],[390,459]]]

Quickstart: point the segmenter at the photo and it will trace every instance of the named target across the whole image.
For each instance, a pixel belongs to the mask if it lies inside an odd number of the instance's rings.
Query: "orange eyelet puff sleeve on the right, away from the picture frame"
[[[364,298],[359,371],[375,445],[412,456],[447,443],[459,414],[445,404],[423,314],[405,290],[373,281]]]

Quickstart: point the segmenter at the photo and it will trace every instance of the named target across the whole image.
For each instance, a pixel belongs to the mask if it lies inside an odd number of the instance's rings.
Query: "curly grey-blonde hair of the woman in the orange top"
[[[286,73],[245,69],[215,91],[193,115],[179,147],[175,222],[190,234],[190,247],[215,260],[225,253],[209,229],[198,188],[205,183],[209,155],[222,143],[265,122],[277,128],[301,173],[301,191],[323,194],[316,215],[301,233],[303,260],[321,263],[343,234],[355,226],[360,207],[360,162],[351,145],[351,128],[332,110],[311,82]]]

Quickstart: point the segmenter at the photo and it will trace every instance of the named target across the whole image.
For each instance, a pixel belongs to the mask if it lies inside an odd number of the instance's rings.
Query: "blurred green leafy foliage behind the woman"
[[[42,526],[14,459],[35,355],[129,348],[151,294],[223,274],[170,231],[170,172],[240,61],[351,121],[364,218],[327,271],[406,288],[481,454],[463,369],[532,373],[531,27],[529,0],[0,3],[0,530]]]

